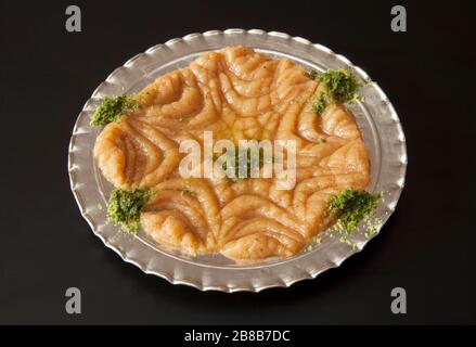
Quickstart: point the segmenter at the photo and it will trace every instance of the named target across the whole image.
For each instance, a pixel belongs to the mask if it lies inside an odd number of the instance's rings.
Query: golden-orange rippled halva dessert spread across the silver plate
[[[346,72],[339,76],[356,87]],[[110,216],[190,255],[243,261],[297,254],[338,218],[329,202],[370,180],[368,151],[342,104],[349,98],[332,78],[230,47],[158,77],[133,98],[106,99],[91,123],[113,120],[94,146],[101,172],[118,189]],[[214,142],[294,141],[295,184],[280,189],[276,176],[184,178],[181,143],[196,141],[205,153],[206,132]],[[127,214],[132,221],[123,222]]]

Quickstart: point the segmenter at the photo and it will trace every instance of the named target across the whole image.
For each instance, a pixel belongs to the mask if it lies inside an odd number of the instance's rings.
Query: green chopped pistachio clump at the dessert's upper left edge
[[[138,102],[131,97],[120,95],[115,98],[104,98],[102,104],[92,115],[91,126],[105,126],[117,120],[128,108],[138,108]]]

